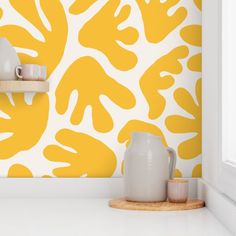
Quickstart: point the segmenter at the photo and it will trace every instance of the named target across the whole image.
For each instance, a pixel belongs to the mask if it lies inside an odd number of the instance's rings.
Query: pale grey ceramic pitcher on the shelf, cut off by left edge
[[[16,80],[15,68],[20,60],[6,38],[0,38],[0,80]]]

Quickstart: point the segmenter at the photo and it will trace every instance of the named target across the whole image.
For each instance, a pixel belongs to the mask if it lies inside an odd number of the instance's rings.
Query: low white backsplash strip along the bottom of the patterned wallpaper
[[[189,180],[189,196],[197,197],[197,179]],[[123,196],[122,178],[2,178],[0,198],[116,198]]]

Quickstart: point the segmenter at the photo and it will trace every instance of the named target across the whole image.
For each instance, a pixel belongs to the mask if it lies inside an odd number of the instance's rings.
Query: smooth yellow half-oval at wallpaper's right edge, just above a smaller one
[[[181,31],[180,35],[182,39],[194,46],[202,46],[202,27],[201,25],[188,25]]]

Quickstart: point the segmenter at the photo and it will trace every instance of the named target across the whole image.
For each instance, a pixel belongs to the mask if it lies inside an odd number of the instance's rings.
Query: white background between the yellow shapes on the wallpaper
[[[36,0],[39,5],[39,1]],[[182,0],[175,7],[170,9],[170,14],[176,8],[180,6],[184,6],[188,11],[188,16],[180,24],[173,32],[171,32],[165,40],[158,44],[152,44],[147,42],[144,34],[144,27],[142,22],[142,17],[138,5],[135,0],[121,0],[121,5],[130,4],[132,6],[131,15],[127,21],[123,22],[120,27],[124,26],[133,26],[139,31],[139,39],[138,41],[132,45],[128,46],[128,48],[135,52],[139,61],[135,68],[131,69],[128,72],[122,72],[114,68],[105,55],[102,52],[96,51],[94,49],[89,49],[81,46],[78,42],[78,32],[81,27],[84,25],[86,21],[88,21],[101,7],[107,2],[107,0],[98,0],[91,8],[89,8],[85,13],[80,14],[78,16],[72,15],[69,13],[69,6],[74,2],[73,0],[63,0],[61,1],[64,5],[64,9],[67,15],[68,27],[69,27],[69,35],[68,41],[65,48],[64,56],[55,69],[55,71],[51,74],[49,78],[50,82],[50,111],[49,111],[49,120],[46,131],[41,137],[38,144],[27,151],[22,151],[16,154],[14,157],[9,158],[7,160],[0,161],[0,175],[6,176],[8,172],[8,168],[14,163],[21,163],[27,166],[32,172],[34,176],[42,176],[42,175],[52,175],[52,170],[59,166],[67,166],[66,163],[54,163],[48,161],[43,156],[43,149],[48,144],[57,143],[55,141],[55,134],[61,128],[68,128],[74,131],[87,133],[101,141],[103,141],[106,145],[108,145],[117,156],[117,169],[114,173],[114,176],[121,175],[121,161],[123,159],[123,153],[125,151],[125,144],[119,144],[115,138],[120,131],[120,129],[127,123],[127,121],[131,119],[140,119],[152,124],[157,125],[161,128],[164,133],[167,143],[169,146],[173,147],[177,150],[179,143],[183,140],[189,139],[195,134],[173,134],[169,132],[165,126],[165,118],[168,115],[180,114],[186,117],[191,117],[190,114],[186,113],[183,109],[181,109],[178,104],[176,104],[173,98],[173,92],[179,88],[186,88],[193,96],[195,95],[195,83],[196,80],[201,77],[201,73],[192,72],[188,70],[186,66],[187,59],[194,54],[197,54],[201,51],[199,47],[194,47],[187,45],[182,38],[180,37],[179,31],[184,26],[190,24],[201,24],[201,12],[194,5],[193,0]],[[4,18],[1,21],[1,24],[9,24],[13,23],[16,25],[24,26],[28,31],[32,32],[35,37],[42,39],[43,36],[40,32],[38,32],[33,26],[30,25],[22,16],[20,16],[14,9],[10,7],[8,0],[1,0],[0,6],[4,9]],[[120,9],[119,7],[119,9]],[[118,9],[118,11],[119,11]],[[30,10],[30,9],[29,9]],[[56,9],[55,9],[56,14]],[[44,20],[45,24],[48,24]],[[50,26],[49,26],[50,27]],[[99,32],[97,32],[99,34]],[[19,35],[20,37],[20,35]],[[121,43],[120,43],[121,44]],[[158,58],[165,55],[173,48],[187,45],[189,48],[189,56],[181,60],[183,64],[183,71],[179,75],[174,75],[175,84],[160,93],[166,98],[166,108],[163,114],[156,120],[148,119],[148,105],[145,100],[145,97],[141,93],[139,87],[139,79],[142,74],[146,71],[146,69],[153,64]],[[123,45],[125,48],[125,46]],[[19,50],[16,48],[19,52]],[[31,52],[30,52],[31,53]],[[86,109],[84,118],[79,125],[72,125],[70,123],[70,115],[76,103],[77,93],[74,92],[70,99],[70,107],[68,111],[64,115],[59,115],[55,110],[55,89],[62,78],[62,75],[66,71],[66,69],[70,66],[70,64],[79,57],[84,55],[90,55],[94,57],[105,69],[106,73],[114,78],[117,82],[129,88],[136,97],[136,106],[131,110],[122,110],[113,104],[107,97],[101,96],[100,99],[105,107],[109,107],[109,113],[113,117],[114,121],[114,129],[108,133],[99,133],[94,130],[92,126],[91,120],[91,109],[90,107]],[[92,85],[91,85],[92,86]],[[30,102],[32,94],[27,94],[26,99]],[[196,98],[194,97],[195,101]],[[40,114],[39,114],[40,116]],[[5,136],[0,135],[0,138]],[[65,148],[65,147],[64,147]],[[192,174],[192,169],[197,164],[201,163],[201,156],[191,159],[191,160],[183,160],[178,159],[177,168],[181,170],[184,176],[188,177]]]

